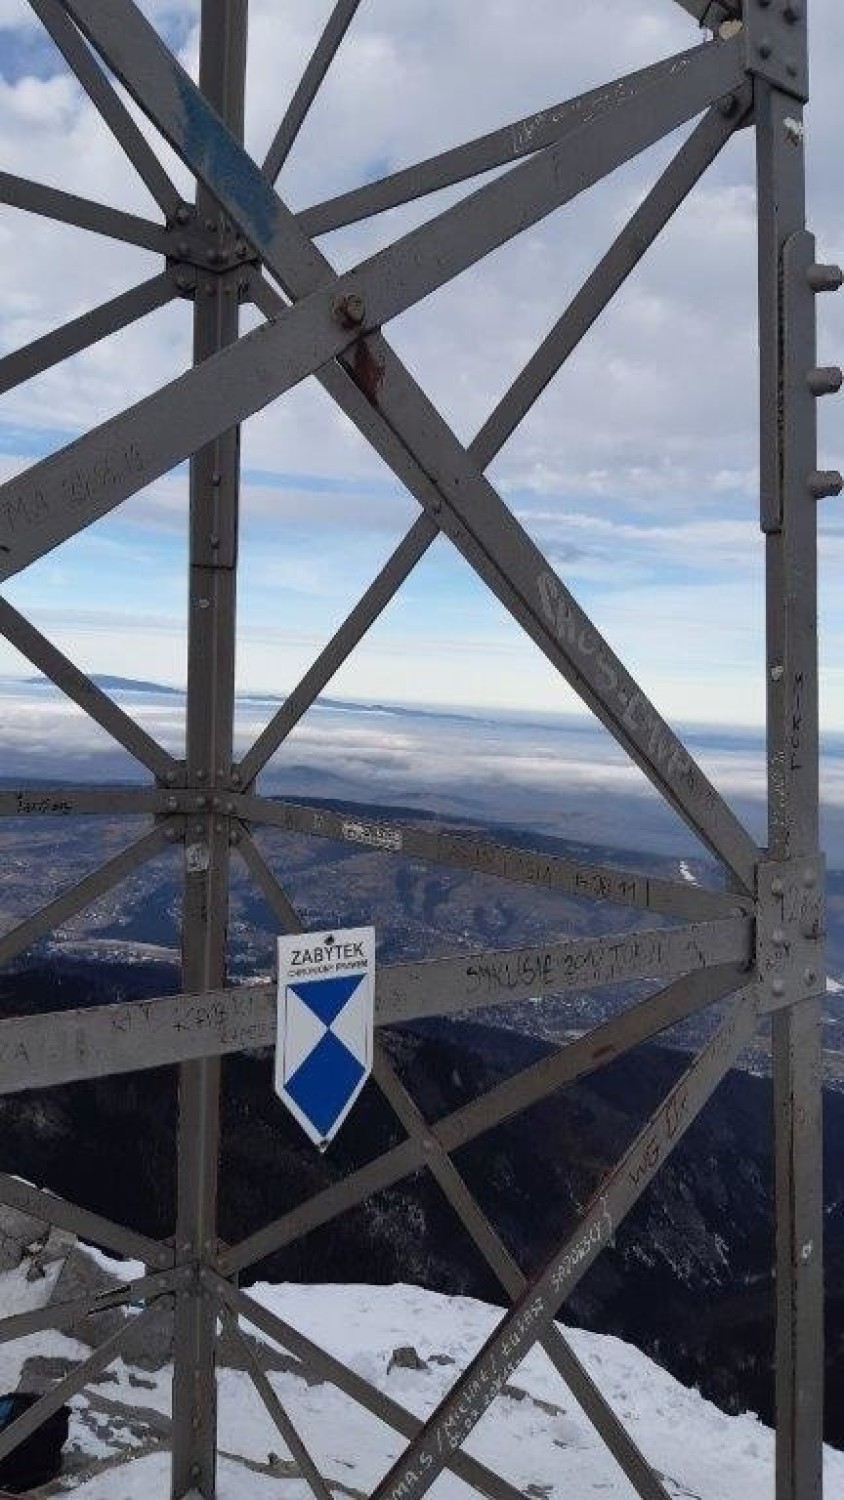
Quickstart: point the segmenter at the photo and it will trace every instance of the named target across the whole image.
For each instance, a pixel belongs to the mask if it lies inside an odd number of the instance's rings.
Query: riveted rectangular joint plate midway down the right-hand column
[[[759,866],[756,963],[760,1011],[778,1011],[826,988],[822,855]]]

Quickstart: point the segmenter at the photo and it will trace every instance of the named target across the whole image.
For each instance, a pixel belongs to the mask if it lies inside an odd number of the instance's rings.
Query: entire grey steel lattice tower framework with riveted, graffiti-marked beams
[[[670,0],[666,0],[669,4]],[[151,478],[190,458],[187,750],[159,746],[18,610],[0,600],[0,632],[151,780],[141,788],[13,788],[0,816],[138,813],[153,819],[135,843],[33,912],[0,939],[10,962],[109,891],[144,861],[184,846],[183,993],[0,1023],[0,1092],[180,1064],[178,1214],[174,1240],[156,1244],[100,1215],[0,1174],[0,1202],[145,1263],[108,1305],[127,1298],[174,1305],[172,1500],[216,1492],[217,1317],[279,1341],[334,1382],[409,1446],[373,1500],[412,1500],[444,1468],[490,1500],[517,1491],[462,1443],[526,1350],[541,1341],[610,1454],[645,1500],[666,1490],[553,1318],[615,1227],[648,1186],[757,1026],[771,1026],[777,1138],[777,1500],[820,1500],[823,1413],[823,1221],[820,1005],[823,862],[817,782],[817,502],[841,489],[819,472],[816,402],[841,386],[817,369],[816,298],[841,286],[805,228],[802,105],[807,24],[801,6],[676,0],[708,33],[703,45],[577,99],[538,110],[478,140],[378,182],[291,213],[274,182],[307,118],[358,0],[336,0],[262,165],[240,144],[247,0],[202,0],[199,87],[178,68],[132,0],[31,0],[129,166],[162,212],[156,224],[60,189],[0,172],[0,201],[24,213],[105,234],[162,256],[157,274],[0,360],[0,392],[49,369],[157,308],[193,304],[195,368],[52,458],[0,486],[0,576],[10,578],[75,536]],[[105,63],[103,70],[100,66]],[[120,80],[196,177],[183,201],[126,108]],[[468,447],[388,346],[382,326],[538,224],[685,122],[690,132],[571,304]],[[547,382],[577,348],[675,210],[730,138],[753,129],[759,154],[760,525],[768,561],[769,848],[757,849],[565,582],[519,526],[484,471]],[[427,224],[337,276],[312,242],[444,186],[501,168]],[[280,288],[280,291],[277,290]],[[198,292],[202,292],[198,296]],[[289,298],[289,300],[288,300]],[[267,322],[238,336],[238,303]],[[240,453],[237,424],[313,376],[421,506],[370,588],[243,759],[232,758]],[[579,864],[447,830],[364,819],[270,801],[256,778],[331,676],[424,556],[445,536],[553,666],[645,771],[724,868],[723,890]],[[439,1120],[427,1120],[379,1048],[375,1080],[406,1138],[306,1198],[240,1245],[220,1245],[217,1221],[219,1064],[271,1044],[268,982],[226,982],[232,848],[282,930],[300,915],[253,828],[309,834],[382,855],[472,870],[496,880],[654,912],[663,927],[570,938],[508,952],[384,966],[376,1022],[448,1014],[508,999],[565,994],[663,978],[664,987],[585,1036]],[[376,914],[373,914],[376,918]],[[526,1286],[463,1182],[453,1154],[568,1082],[660,1035],[705,1006],[727,1006],[715,1038],[690,1065],[622,1161],[609,1173],[546,1270]],[[768,1018],[771,1014],[771,1018]],[[237,1290],[237,1275],[372,1192],[427,1170],[513,1299],[487,1346],[423,1425],[360,1376]],[[0,1340],[60,1326],[106,1305],[10,1317]],[[114,1359],[106,1341],[0,1436],[0,1456]],[[330,1485],[304,1449],[244,1344],[246,1368],[318,1500]]]

